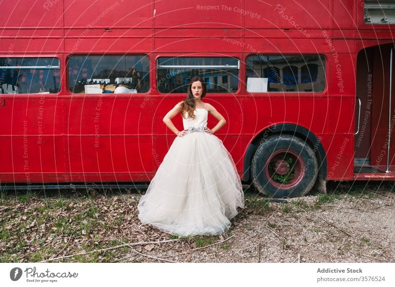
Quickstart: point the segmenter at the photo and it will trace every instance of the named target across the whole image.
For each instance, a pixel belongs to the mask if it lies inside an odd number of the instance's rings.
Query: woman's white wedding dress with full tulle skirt
[[[182,236],[219,234],[244,207],[231,155],[221,140],[201,131],[207,114],[197,108],[196,118],[183,118],[188,134],[176,137],[138,204],[143,224]]]

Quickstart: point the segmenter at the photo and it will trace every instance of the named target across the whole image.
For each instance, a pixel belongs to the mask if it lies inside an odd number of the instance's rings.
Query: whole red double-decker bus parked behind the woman
[[[195,75],[259,191],[395,179],[394,1],[0,6],[2,188],[149,181],[174,139],[162,118]]]

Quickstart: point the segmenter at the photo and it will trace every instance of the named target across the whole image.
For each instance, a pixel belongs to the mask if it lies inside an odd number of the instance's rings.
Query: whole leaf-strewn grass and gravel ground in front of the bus
[[[1,262],[395,262],[391,182],[283,202],[247,188],[227,233],[187,238],[141,224],[141,194],[2,194]]]

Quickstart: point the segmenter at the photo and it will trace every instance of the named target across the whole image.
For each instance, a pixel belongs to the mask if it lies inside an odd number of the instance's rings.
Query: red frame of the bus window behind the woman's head
[[[214,54],[214,53],[213,53]],[[207,94],[210,94],[210,96],[216,96],[216,95],[221,95],[222,97],[224,97],[224,95],[237,95],[240,93],[241,90],[241,84],[240,84],[240,79],[242,76],[242,64],[243,61],[242,59],[242,53],[229,53],[229,54],[221,54],[221,53],[215,53],[215,55],[207,55],[207,53],[190,53],[190,54],[173,54],[173,53],[166,53],[166,54],[156,54],[155,58],[154,58],[154,64],[155,64],[155,75],[154,75],[154,79],[155,79],[155,89],[156,92],[158,93],[158,95],[174,95],[174,96],[180,96],[180,95],[185,95],[186,93],[162,93],[159,91],[158,89],[158,58],[163,58],[163,57],[167,57],[167,58],[176,58],[176,57],[185,57],[185,58],[197,58],[197,57],[212,57],[212,58],[225,58],[225,57],[230,57],[230,58],[235,58],[237,59],[238,63],[239,63],[239,67],[237,69],[238,71],[238,84],[237,84],[237,90],[235,92],[230,92],[230,93],[210,93],[207,91]]]

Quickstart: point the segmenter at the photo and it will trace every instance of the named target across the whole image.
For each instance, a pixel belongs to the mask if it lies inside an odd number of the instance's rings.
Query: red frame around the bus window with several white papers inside
[[[88,57],[88,56],[144,56],[144,57],[148,57],[148,63],[149,63],[149,77],[148,77],[148,79],[149,79],[149,88],[148,88],[148,91],[147,92],[144,92],[144,93],[122,93],[122,94],[115,94],[115,93],[101,93],[101,94],[85,94],[85,93],[83,93],[83,94],[80,94],[80,93],[73,93],[71,90],[70,90],[70,86],[69,86],[69,61],[70,61],[70,58],[71,57],[81,57],[81,56],[86,56],[86,57]],[[99,95],[105,95],[107,98],[108,97],[114,97],[114,96],[117,96],[117,97],[122,97],[122,96],[126,96],[126,95],[134,95],[135,96],[135,98],[138,98],[139,96],[141,96],[141,95],[143,95],[143,96],[147,96],[147,95],[149,95],[150,93],[151,93],[151,91],[152,91],[152,62],[151,62],[151,58],[150,58],[150,54],[144,54],[144,53],[137,53],[137,54],[129,54],[129,53],[124,53],[124,54],[120,54],[120,53],[114,53],[114,54],[103,54],[103,53],[88,53],[88,54],[83,54],[83,53],[78,53],[78,54],[67,54],[66,56],[65,56],[65,80],[66,80],[66,86],[67,86],[67,88],[66,88],[66,90],[67,90],[67,92],[70,94],[70,95],[73,95],[73,96],[81,96],[81,97],[84,97],[84,96],[93,96],[93,97],[98,97]]]

